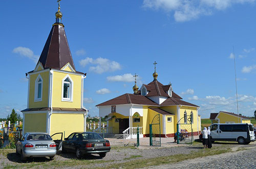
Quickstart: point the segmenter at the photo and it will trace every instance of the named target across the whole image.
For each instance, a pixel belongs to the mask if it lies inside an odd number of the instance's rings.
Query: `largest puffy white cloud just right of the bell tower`
[[[87,64],[95,64],[96,66],[91,66],[89,68],[90,71],[94,71],[97,74],[102,74],[104,72],[111,72],[115,70],[120,70],[121,65],[116,61],[111,61],[106,58],[86,58],[79,61],[79,64],[84,67]]]

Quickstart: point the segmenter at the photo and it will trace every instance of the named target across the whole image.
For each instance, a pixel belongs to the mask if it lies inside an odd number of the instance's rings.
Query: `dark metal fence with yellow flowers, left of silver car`
[[[13,131],[5,127],[0,131],[0,149],[15,149],[16,142],[22,137],[22,130]]]

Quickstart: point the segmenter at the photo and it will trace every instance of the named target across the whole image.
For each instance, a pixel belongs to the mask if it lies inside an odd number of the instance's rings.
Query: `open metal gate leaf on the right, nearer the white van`
[[[184,116],[177,123],[177,143],[178,144],[193,144],[193,128],[191,115]]]

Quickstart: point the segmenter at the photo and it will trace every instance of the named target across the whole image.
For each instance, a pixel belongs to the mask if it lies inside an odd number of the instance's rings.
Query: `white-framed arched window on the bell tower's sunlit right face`
[[[73,81],[67,75],[63,80],[62,80],[62,97],[61,101],[71,101],[72,102],[72,94],[73,94]]]

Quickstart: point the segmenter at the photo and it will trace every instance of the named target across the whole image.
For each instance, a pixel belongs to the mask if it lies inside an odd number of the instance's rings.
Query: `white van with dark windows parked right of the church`
[[[253,125],[247,123],[212,124],[210,126],[212,141],[238,141],[239,144],[248,144],[255,140]]]

